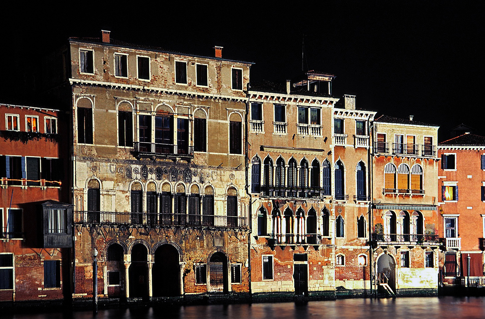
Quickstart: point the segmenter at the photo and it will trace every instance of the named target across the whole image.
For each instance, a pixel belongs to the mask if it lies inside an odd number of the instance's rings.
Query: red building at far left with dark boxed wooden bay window
[[[59,110],[0,103],[0,303],[70,295],[66,128]]]

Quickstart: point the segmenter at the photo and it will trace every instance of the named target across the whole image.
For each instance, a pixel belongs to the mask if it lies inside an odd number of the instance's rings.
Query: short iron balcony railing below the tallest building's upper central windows
[[[193,159],[194,146],[133,142],[133,153],[138,156]]]

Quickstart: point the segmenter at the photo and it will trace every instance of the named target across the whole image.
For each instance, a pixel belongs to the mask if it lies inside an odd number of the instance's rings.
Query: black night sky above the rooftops
[[[358,108],[437,124],[440,140],[460,123],[485,135],[484,1],[299,2],[18,8],[2,21],[3,48],[13,50],[2,50],[0,93],[15,92],[19,65],[35,63],[69,36],[98,36],[101,29],[118,40],[198,55],[223,46],[224,58],[256,63],[253,81],[293,79],[304,38],[304,70],[335,74],[335,96],[353,94]]]

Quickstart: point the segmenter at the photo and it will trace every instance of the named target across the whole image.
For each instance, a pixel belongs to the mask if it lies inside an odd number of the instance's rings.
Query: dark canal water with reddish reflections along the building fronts
[[[91,311],[73,313],[0,315],[2,319],[90,319]],[[396,299],[340,299],[336,301],[295,303],[253,303],[230,305],[193,305],[133,309],[100,309],[97,319],[482,319],[484,297],[426,297]]]

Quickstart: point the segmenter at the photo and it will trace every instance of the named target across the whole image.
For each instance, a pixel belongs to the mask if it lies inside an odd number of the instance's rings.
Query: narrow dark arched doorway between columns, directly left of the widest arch
[[[129,266],[129,296],[148,296],[148,251],[143,244],[136,244],[131,249],[131,265]]]

